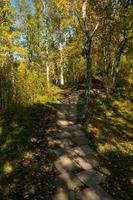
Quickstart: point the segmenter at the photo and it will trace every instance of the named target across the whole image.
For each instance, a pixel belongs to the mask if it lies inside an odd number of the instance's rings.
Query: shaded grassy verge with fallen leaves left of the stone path
[[[59,92],[54,88],[34,104],[12,107],[1,116],[1,200],[49,199],[54,157],[48,137],[56,121],[52,104]]]

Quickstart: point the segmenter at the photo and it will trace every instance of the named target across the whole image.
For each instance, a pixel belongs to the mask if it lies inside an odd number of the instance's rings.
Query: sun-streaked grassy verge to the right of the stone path
[[[83,107],[83,98],[79,102]],[[95,91],[85,129],[100,159],[99,171],[107,176],[103,185],[115,200],[133,199],[133,106]]]

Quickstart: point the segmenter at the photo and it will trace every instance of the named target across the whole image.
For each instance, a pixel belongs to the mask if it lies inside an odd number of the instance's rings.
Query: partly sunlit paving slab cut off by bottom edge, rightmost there
[[[77,199],[81,200],[113,200],[112,197],[107,194],[100,186],[94,188],[86,188],[79,194]]]

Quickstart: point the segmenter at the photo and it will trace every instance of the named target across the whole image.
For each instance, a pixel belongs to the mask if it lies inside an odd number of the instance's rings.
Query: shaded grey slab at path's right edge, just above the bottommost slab
[[[95,186],[105,181],[105,176],[94,169],[79,172],[77,177],[87,186]]]

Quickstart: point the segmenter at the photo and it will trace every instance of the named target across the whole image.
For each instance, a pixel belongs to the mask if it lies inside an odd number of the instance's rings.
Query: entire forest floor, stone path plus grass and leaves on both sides
[[[0,199],[132,199],[131,106],[95,91],[82,124],[81,93],[1,118]]]

